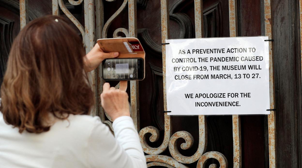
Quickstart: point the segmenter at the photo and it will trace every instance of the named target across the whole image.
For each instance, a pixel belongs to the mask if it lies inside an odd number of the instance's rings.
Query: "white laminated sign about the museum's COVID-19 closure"
[[[168,115],[270,114],[268,37],[166,40]]]

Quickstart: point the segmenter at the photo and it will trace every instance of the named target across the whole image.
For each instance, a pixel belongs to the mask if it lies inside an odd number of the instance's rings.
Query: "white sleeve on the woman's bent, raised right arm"
[[[91,167],[146,168],[146,158],[132,118],[122,116],[113,122],[114,136],[100,119],[88,139],[88,165]]]

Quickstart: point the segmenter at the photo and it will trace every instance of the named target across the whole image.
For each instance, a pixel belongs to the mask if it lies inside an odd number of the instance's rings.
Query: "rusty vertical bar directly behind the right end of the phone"
[[[128,0],[129,37],[137,37],[137,8],[136,0]],[[139,83],[130,81],[131,118],[136,129],[140,130],[140,101]]]

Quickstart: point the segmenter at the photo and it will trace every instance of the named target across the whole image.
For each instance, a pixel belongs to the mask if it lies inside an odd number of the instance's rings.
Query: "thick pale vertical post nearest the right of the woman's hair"
[[[88,53],[95,44],[95,17],[94,17],[94,2],[93,0],[84,0],[84,19],[85,19],[85,49]],[[96,80],[95,80],[95,70],[88,73],[89,81],[92,86],[92,90],[95,93],[96,100]],[[98,105],[92,109],[91,114],[93,116],[97,115]]]

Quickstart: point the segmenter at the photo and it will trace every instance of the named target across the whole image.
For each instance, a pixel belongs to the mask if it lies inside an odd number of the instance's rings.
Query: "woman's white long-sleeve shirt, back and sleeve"
[[[132,119],[119,117],[113,128],[115,138],[99,117],[69,115],[47,132],[20,134],[0,112],[0,167],[147,167]]]

